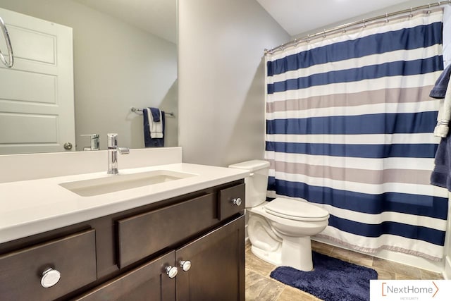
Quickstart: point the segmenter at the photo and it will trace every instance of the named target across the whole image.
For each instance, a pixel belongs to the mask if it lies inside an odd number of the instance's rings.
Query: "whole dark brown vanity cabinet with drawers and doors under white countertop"
[[[244,209],[237,180],[6,242],[0,300],[244,301]]]

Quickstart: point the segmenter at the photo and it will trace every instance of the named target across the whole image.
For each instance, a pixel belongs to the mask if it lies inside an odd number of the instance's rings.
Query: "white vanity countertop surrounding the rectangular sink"
[[[0,183],[0,243],[185,195],[249,175],[240,169],[186,163],[123,169],[120,174],[162,169],[194,173],[196,176],[92,197],[81,197],[59,184],[113,175],[98,172]]]

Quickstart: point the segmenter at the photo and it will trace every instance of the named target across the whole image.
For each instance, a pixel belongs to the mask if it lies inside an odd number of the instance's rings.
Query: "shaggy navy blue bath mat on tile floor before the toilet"
[[[373,269],[313,252],[313,271],[279,266],[271,277],[326,301],[369,300],[369,280],[377,279]]]

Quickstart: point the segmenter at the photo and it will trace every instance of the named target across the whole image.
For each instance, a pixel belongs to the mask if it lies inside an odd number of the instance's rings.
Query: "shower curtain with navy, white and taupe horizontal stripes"
[[[319,238],[443,257],[447,190],[429,184],[438,138],[443,12],[362,26],[266,55],[268,197],[328,210]]]

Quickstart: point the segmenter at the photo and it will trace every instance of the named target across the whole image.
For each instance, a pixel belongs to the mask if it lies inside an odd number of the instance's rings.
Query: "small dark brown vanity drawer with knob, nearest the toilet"
[[[245,184],[219,190],[218,219],[226,219],[245,209]]]

